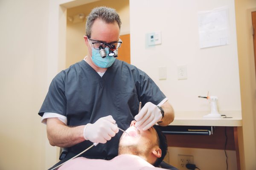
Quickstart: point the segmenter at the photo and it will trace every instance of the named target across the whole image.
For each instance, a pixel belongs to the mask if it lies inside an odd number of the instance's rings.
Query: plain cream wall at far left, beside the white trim
[[[45,170],[48,0],[0,1],[0,169]]]

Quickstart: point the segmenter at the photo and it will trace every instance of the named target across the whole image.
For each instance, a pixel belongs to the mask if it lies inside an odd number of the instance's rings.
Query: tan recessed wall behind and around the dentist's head
[[[68,8],[67,16],[75,16],[79,13],[83,13],[87,16],[90,11],[97,6],[115,8],[122,20],[120,34],[130,33],[129,0],[100,0],[94,3]],[[85,23],[86,18],[81,23],[67,21],[66,68],[71,64],[81,61],[87,55],[87,46],[83,38],[85,34]]]

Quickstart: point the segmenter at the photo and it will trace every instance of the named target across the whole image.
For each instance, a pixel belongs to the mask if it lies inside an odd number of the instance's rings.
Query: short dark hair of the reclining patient
[[[163,132],[160,130],[160,128],[157,127],[157,125],[154,125],[153,127],[157,131],[158,144],[159,144],[160,149],[162,150],[161,157],[157,158],[157,160],[153,164],[155,167],[158,167],[159,164],[163,161],[164,157],[166,156],[168,145],[167,145],[166,136],[163,134]]]

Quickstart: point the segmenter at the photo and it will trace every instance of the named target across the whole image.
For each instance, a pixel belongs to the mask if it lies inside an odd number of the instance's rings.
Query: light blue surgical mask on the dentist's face
[[[99,54],[99,50],[92,48],[92,60],[94,64],[96,64],[100,68],[109,68],[116,58],[108,56],[109,48],[105,48],[104,50],[106,51],[107,56],[105,58],[102,58]]]

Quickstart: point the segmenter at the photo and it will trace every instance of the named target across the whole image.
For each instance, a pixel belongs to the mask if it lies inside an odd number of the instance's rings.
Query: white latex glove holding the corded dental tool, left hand
[[[106,143],[118,133],[116,121],[111,115],[99,118],[95,123],[84,127],[84,139],[93,143]]]

